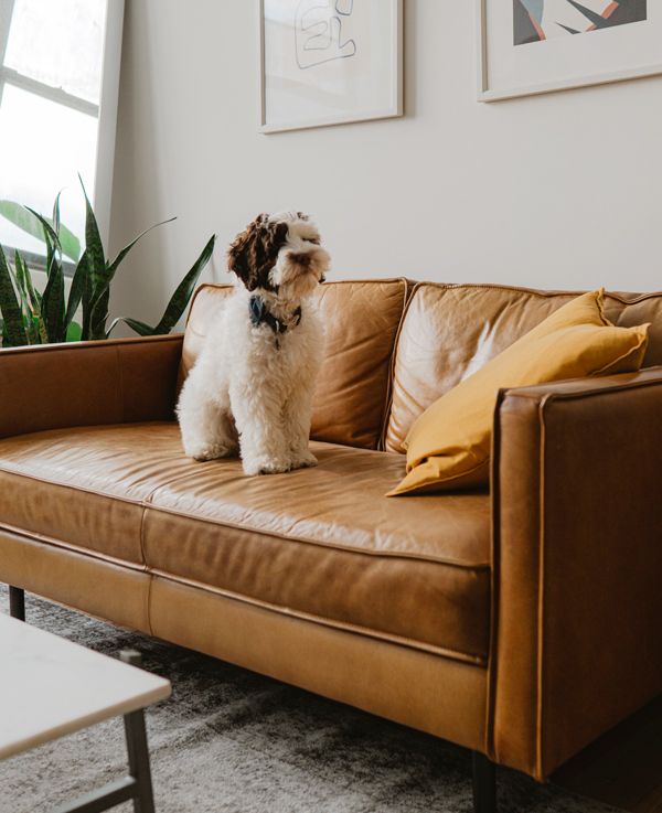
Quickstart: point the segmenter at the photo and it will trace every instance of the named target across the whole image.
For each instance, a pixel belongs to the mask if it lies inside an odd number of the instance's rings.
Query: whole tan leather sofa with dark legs
[[[173,421],[185,335],[0,352],[0,579],[538,780],[662,689],[662,295],[647,370],[499,394],[490,493],[386,499],[435,398],[574,296],[404,279],[320,289],[319,467],[247,479]],[[482,755],[482,756],[481,756]],[[489,761],[488,761],[489,759]]]

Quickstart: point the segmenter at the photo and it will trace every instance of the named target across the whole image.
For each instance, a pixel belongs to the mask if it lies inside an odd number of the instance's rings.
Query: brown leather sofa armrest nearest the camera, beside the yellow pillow
[[[488,749],[545,779],[662,691],[662,367],[500,393]]]

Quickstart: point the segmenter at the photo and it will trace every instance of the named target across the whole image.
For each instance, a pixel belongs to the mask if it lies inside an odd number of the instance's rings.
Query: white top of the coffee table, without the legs
[[[162,677],[0,614],[0,759],[170,692]]]

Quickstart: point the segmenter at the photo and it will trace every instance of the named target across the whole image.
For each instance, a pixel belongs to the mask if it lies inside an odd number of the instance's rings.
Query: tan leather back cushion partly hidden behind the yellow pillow
[[[491,285],[416,286],[397,341],[386,450],[404,452],[410,426],[430,404],[578,293]],[[662,293],[607,293],[605,313],[619,327],[651,322],[643,364],[662,364]]]

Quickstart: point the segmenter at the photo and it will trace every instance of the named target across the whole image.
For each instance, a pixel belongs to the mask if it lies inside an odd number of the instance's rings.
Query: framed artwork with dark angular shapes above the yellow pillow
[[[477,0],[481,101],[662,73],[662,0]]]

